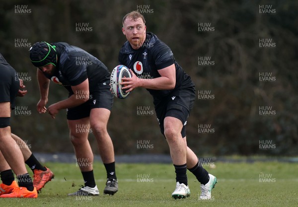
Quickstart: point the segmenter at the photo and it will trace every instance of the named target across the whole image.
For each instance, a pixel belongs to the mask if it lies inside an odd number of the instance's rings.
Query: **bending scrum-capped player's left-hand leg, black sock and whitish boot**
[[[74,145],[76,162],[84,179],[84,187],[69,196],[98,196],[99,191],[93,174],[93,153],[88,141],[89,117],[68,120],[71,141]]]

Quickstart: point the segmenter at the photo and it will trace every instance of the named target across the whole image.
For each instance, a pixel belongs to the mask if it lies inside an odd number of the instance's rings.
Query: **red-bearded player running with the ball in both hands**
[[[211,199],[217,178],[199,163],[187,146],[185,125],[195,100],[195,86],[190,76],[175,61],[171,49],[156,35],[146,32],[145,18],[132,11],[123,18],[122,32],[127,42],[119,52],[119,64],[128,67],[131,78],[122,78],[127,92],[146,88],[153,104],[161,133],[167,140],[176,173],[174,199],[190,196],[187,169],[201,183],[201,200]]]

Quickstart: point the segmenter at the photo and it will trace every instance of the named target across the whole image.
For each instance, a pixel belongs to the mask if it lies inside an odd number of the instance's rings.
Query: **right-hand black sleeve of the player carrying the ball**
[[[152,47],[155,66],[157,69],[164,69],[174,64],[174,57],[171,49],[161,41],[157,41]]]

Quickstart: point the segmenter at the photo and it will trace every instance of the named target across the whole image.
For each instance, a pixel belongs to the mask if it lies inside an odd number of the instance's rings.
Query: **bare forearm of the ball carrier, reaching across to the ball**
[[[139,87],[153,90],[171,90],[175,87],[176,81],[168,77],[156,77],[152,79],[138,78]]]

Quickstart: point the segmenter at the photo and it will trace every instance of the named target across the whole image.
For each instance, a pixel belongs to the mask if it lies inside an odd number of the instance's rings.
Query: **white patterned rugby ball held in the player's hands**
[[[125,90],[122,90],[122,86],[120,83],[122,82],[121,78],[123,77],[132,77],[129,69],[126,66],[119,65],[116,66],[111,73],[111,78],[110,78],[110,83],[111,83],[111,89],[112,93],[117,97],[117,98],[126,98],[128,96],[128,93],[125,92]]]

